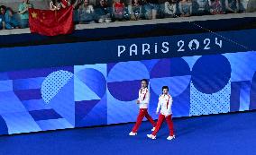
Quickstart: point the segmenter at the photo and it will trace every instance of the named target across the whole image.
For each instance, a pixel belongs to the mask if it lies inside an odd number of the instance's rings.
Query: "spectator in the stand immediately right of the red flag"
[[[95,20],[95,10],[93,5],[89,4],[88,0],[85,0],[84,4],[80,5],[78,9],[79,23],[91,23]]]

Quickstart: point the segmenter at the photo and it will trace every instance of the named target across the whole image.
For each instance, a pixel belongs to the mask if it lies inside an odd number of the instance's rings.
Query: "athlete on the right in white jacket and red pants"
[[[172,106],[172,98],[168,93],[169,88],[168,86],[162,87],[162,94],[159,98],[158,108],[156,113],[158,114],[160,111],[160,116],[157,122],[157,125],[155,127],[155,130],[151,134],[147,134],[147,136],[151,139],[156,139],[156,135],[160,130],[160,126],[162,125],[164,119],[166,120],[168,126],[169,126],[169,137],[167,137],[168,140],[172,140],[175,138],[174,135],[174,129],[173,129],[173,123],[171,120],[171,106]]]

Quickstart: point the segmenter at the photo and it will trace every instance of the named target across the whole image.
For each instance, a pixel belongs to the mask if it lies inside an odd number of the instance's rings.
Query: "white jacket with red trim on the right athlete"
[[[167,95],[160,95],[157,113],[160,111],[160,113],[164,116],[169,116],[172,114],[171,111],[172,106],[172,98],[169,94]]]

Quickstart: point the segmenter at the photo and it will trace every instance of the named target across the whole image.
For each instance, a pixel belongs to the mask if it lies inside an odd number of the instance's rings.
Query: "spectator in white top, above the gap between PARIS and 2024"
[[[167,2],[165,2],[164,4],[164,13],[165,13],[165,17],[169,18],[169,17],[177,17],[177,2],[176,0],[168,0]]]

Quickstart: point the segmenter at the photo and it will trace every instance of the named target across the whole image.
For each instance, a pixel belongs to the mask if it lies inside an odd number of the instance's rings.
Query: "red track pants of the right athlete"
[[[173,123],[171,120],[171,115],[165,117],[162,114],[160,114],[160,116],[159,116],[159,120],[157,122],[156,128],[155,128],[154,132],[152,133],[153,135],[156,135],[159,132],[160,126],[162,125],[164,118],[166,119],[167,125],[169,126],[169,135],[170,136],[174,135],[174,129],[173,129]]]

